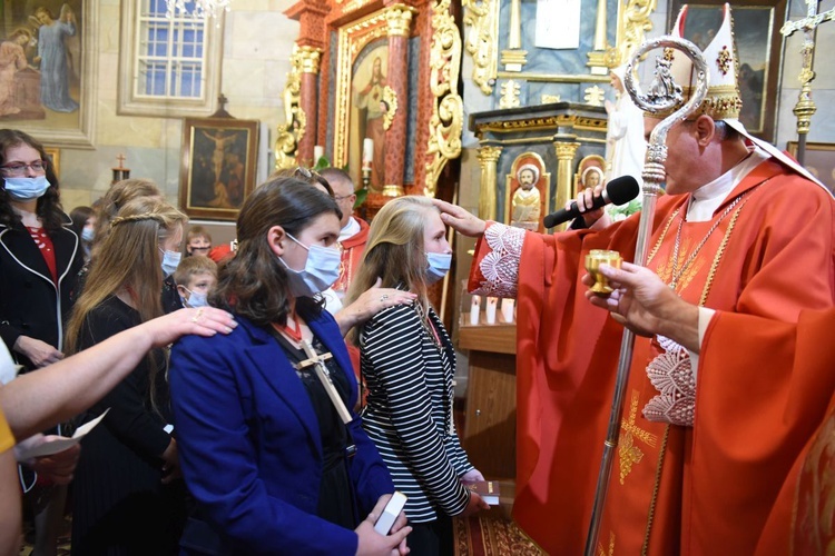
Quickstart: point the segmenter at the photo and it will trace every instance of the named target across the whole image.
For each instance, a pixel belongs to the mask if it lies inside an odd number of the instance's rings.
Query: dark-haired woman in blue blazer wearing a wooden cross
[[[183,471],[197,499],[183,554],[406,550],[403,514],[391,535],[374,530],[394,487],[350,409],[345,344],[315,297],[336,279],[338,234],[336,203],[306,179],[273,177],[244,201],[237,252],[210,298],[238,327],[171,353]]]

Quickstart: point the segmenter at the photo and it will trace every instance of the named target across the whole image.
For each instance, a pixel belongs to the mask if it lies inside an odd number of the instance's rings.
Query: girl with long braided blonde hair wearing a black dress
[[[67,326],[78,353],[164,314],[165,260],[187,218],[167,202],[127,202],[96,250]],[[177,440],[170,434],[167,357],[156,349],[79,421],[109,408],[86,438],[73,490],[72,554],[176,554],[185,520]]]

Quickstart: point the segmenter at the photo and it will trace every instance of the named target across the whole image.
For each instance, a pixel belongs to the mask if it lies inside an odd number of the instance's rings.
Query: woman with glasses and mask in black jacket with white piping
[[[0,129],[0,337],[26,373],[63,358],[63,324],[84,252],[41,143]],[[41,478],[49,463],[33,466]],[[36,547],[55,554],[66,490],[37,481],[24,467],[21,481],[37,515]]]

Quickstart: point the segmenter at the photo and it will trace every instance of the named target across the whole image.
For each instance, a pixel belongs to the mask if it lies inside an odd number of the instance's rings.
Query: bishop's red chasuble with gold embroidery
[[[649,241],[648,267],[675,281],[682,298],[785,321],[833,305],[835,202],[821,187],[765,161],[713,220],[684,222],[679,231],[688,199],[659,198]],[[586,543],[622,336],[607,311],[586,300],[582,261],[590,249],[632,260],[638,217],[600,232],[525,234],[513,513],[551,554],[581,554]],[[483,281],[478,262],[489,249],[482,238],[471,289]],[[769,365],[731,373],[721,356],[701,358],[694,425],[652,423],[644,409],[650,401],[658,407],[659,390],[646,369],[654,360],[677,363],[656,359],[665,353],[658,338],[636,340],[598,552],[752,554],[808,439],[777,438],[769,451],[757,448],[773,434],[774,423],[760,418],[764,407],[779,413],[772,404],[786,398],[792,379],[775,384],[772,377],[785,370]],[[765,399],[764,385],[775,388]],[[734,403],[717,405],[717,391]]]

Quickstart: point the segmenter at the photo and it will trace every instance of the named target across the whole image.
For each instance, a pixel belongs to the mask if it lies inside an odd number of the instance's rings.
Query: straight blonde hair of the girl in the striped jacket
[[[371,288],[377,277],[383,288],[399,285],[418,294],[418,302],[429,308],[426,297],[426,261],[423,236],[426,215],[438,211],[428,197],[406,196],[389,201],[374,217],[369,241],[346,297],[350,305]]]

